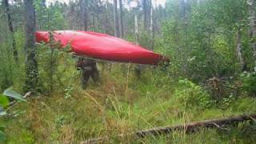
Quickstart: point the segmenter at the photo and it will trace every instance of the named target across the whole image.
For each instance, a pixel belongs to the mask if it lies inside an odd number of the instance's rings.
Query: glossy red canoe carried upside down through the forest
[[[50,42],[47,31],[37,31],[35,35],[37,42]],[[60,42],[62,47],[70,45],[75,54],[90,58],[148,65],[158,65],[159,62],[168,60],[160,54],[107,34],[57,30],[53,35],[54,41]]]

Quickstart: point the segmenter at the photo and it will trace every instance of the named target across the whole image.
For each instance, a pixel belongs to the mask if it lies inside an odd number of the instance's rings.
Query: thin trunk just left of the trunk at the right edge
[[[238,60],[239,60],[239,64],[240,64],[240,68],[241,70],[245,69],[245,62],[242,58],[242,43],[241,43],[241,30],[239,30],[240,28],[238,28],[238,32],[237,32],[237,46],[236,46],[236,53],[238,56]]]

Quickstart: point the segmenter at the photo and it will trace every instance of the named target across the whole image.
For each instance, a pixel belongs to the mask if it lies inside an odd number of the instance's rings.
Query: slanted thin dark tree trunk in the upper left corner
[[[13,24],[12,24],[12,19],[10,17],[10,8],[9,8],[8,0],[4,0],[4,5],[6,7],[6,16],[7,16],[7,20],[8,20],[10,36],[11,36],[11,39],[12,39],[14,60],[18,64],[18,50],[17,50],[17,46],[16,46],[16,41],[15,41],[15,38],[14,38],[14,27],[13,27]]]

